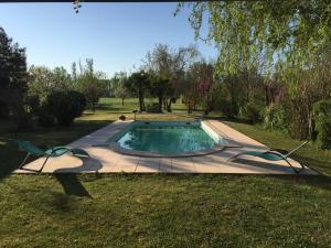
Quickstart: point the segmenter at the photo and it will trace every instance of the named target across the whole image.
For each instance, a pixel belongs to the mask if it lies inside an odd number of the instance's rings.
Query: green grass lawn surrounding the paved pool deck
[[[137,99],[121,106],[120,99],[104,98],[95,114],[85,111],[72,127],[34,132],[14,133],[0,121],[0,247],[330,247],[331,152],[313,143],[295,158],[319,176],[11,174],[24,153],[10,139],[63,145],[120,115],[132,119],[134,109]],[[172,115],[137,118],[194,115],[178,103]],[[273,149],[300,143],[258,125],[224,122]]]

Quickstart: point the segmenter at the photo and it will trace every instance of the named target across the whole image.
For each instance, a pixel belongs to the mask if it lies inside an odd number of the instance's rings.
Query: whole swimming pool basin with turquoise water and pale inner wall
[[[224,140],[201,121],[135,121],[108,142],[131,154],[189,155],[220,149]]]

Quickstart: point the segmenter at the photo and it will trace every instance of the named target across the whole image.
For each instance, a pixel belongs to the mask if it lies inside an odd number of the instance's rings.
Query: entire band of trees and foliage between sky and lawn
[[[47,117],[45,111],[61,122],[50,110],[52,104],[45,107],[52,103],[50,94],[58,90],[83,95],[93,109],[100,96],[119,97],[122,105],[126,97],[137,97],[140,111],[154,112],[170,112],[182,100],[189,112],[216,110],[331,148],[329,1],[191,2],[179,3],[175,13],[183,6],[191,9],[195,37],[215,44],[216,60],[205,61],[194,46],[157,44],[139,69],[119,72],[109,80],[94,72],[92,60],[74,63],[71,74],[62,67],[26,71],[24,48],[1,29],[1,115],[11,112],[22,126],[31,115]],[[202,37],[204,18],[209,33]],[[146,105],[146,97],[157,103]]]

